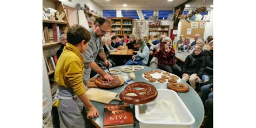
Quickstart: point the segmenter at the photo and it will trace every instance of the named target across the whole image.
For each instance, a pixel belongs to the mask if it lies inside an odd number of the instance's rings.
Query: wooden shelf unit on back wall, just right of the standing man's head
[[[110,17],[110,33],[117,36],[130,36],[133,28],[133,18],[129,17]]]

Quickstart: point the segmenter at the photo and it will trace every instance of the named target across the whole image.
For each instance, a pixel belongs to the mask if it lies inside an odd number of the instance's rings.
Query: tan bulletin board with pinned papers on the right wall
[[[198,23],[197,28],[191,28],[191,23],[193,24],[194,22]],[[204,21],[190,21],[190,23],[188,23],[187,21],[181,21],[181,34],[184,35],[184,38],[194,38],[194,35],[196,35],[197,33],[200,35],[200,37],[204,37],[205,24],[206,22]],[[191,29],[191,35],[187,35],[187,29]]]

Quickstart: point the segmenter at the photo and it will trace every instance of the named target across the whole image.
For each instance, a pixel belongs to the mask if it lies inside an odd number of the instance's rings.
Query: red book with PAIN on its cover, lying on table
[[[104,127],[133,126],[133,124],[134,119],[129,104],[104,105]]]

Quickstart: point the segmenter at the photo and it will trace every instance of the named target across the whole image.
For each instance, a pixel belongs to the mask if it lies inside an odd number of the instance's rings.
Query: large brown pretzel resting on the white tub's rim
[[[143,88],[136,90],[137,87]],[[140,94],[140,92],[145,92]],[[127,93],[135,93],[137,96],[129,96]],[[120,99],[129,104],[146,104],[157,98],[158,92],[156,87],[145,82],[134,82],[125,87],[125,90],[120,93]]]

